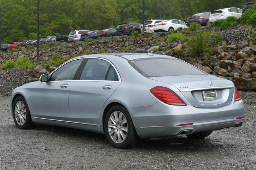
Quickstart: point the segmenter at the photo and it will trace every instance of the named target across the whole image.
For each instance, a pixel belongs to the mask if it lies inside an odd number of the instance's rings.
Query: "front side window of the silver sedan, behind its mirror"
[[[82,63],[83,59],[78,59],[74,61],[70,61],[69,63],[61,66],[52,73],[50,78],[50,82],[52,81],[62,81],[62,80],[73,80],[74,75],[76,74],[76,70]]]

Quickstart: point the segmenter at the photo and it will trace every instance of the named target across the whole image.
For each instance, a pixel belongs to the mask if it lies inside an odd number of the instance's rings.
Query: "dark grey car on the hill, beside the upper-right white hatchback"
[[[211,12],[203,12],[188,17],[187,25],[189,26],[191,23],[198,23],[199,25],[206,26],[209,23],[210,15]]]

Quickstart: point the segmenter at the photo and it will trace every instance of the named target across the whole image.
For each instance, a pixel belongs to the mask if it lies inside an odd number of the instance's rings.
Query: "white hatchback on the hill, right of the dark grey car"
[[[209,23],[216,20],[226,19],[229,16],[234,16],[239,19],[242,16],[242,10],[240,8],[224,8],[211,12]]]

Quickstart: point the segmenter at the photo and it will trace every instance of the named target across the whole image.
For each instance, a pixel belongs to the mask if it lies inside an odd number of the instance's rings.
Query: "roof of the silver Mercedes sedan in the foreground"
[[[104,55],[108,56],[116,56],[121,57],[127,61],[134,60],[134,59],[143,59],[143,58],[156,58],[156,57],[169,57],[172,59],[176,59],[175,57],[167,56],[167,55],[160,55],[160,54],[152,54],[150,53],[103,53],[103,54],[92,54],[92,55],[82,55],[76,58],[82,58],[82,57],[99,57],[104,58]]]

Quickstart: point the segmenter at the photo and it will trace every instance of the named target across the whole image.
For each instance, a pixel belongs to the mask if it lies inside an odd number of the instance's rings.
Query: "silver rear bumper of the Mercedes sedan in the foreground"
[[[154,138],[178,135],[182,130],[192,133],[214,131],[235,127],[242,123],[244,104],[242,100],[218,108],[196,108],[193,106],[170,106],[157,102],[152,106],[128,108],[138,135]],[[193,123],[188,126],[177,126]]]

